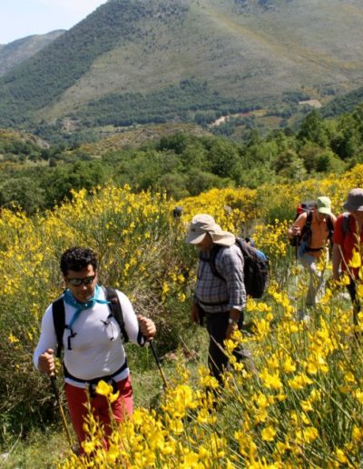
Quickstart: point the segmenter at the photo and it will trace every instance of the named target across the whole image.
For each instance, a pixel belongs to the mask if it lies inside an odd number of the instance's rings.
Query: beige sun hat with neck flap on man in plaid
[[[199,244],[207,233],[211,235],[211,240],[215,244],[231,246],[236,242],[235,235],[228,231],[223,231],[221,226],[215,223],[214,218],[206,214],[195,215],[193,217],[185,241],[189,244]]]

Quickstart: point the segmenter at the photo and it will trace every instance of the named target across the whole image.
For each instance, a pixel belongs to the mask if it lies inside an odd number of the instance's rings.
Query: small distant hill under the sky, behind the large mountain
[[[52,31],[46,35],[28,35],[22,39],[0,46],[0,76],[35,55],[54,39],[64,34],[64,30]]]

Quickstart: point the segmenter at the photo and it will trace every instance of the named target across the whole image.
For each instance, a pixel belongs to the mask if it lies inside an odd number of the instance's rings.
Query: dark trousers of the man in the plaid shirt
[[[224,353],[223,341],[226,339],[226,333],[228,328],[228,320],[230,312],[224,313],[206,313],[206,325],[208,334],[210,334],[210,344],[208,350],[208,366],[211,374],[218,380],[220,384],[223,384],[221,374],[228,366],[228,357]],[[242,325],[242,318],[240,319],[239,329]],[[250,352],[245,348],[237,349],[233,352],[237,360],[250,359]]]

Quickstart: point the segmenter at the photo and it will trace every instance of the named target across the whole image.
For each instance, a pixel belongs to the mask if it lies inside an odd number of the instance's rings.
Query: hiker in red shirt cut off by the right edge
[[[333,236],[333,276],[339,280],[340,275],[347,273],[350,278],[348,292],[353,304],[354,324],[358,323],[360,311],[357,284],[363,281],[358,278],[358,267],[349,266],[355,250],[363,263],[363,189],[352,189],[348,193],[343,207],[348,211],[338,216]],[[358,258],[359,258],[358,257]]]

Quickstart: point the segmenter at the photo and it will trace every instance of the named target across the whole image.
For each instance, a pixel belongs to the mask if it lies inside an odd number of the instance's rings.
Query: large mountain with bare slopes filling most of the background
[[[0,78],[0,125],[188,121],[349,91],[362,18],[360,0],[109,0]]]

